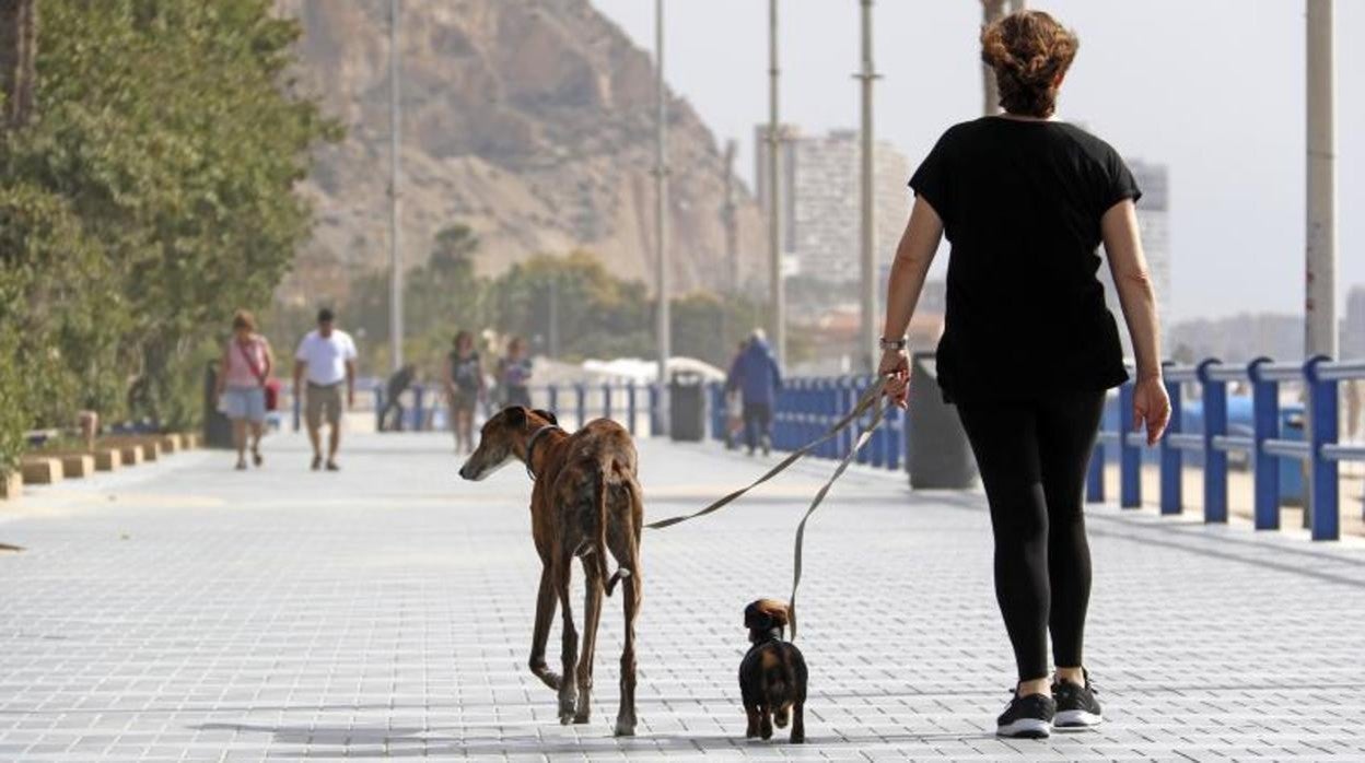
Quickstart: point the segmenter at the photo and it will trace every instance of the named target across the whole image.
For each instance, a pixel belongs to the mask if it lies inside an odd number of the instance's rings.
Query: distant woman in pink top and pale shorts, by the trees
[[[232,420],[239,471],[247,468],[247,427],[251,429],[251,460],[258,467],[263,463],[265,385],[274,367],[274,355],[270,343],[255,332],[255,318],[246,310],[238,310],[232,317],[232,339],[222,348],[218,364],[218,409]]]

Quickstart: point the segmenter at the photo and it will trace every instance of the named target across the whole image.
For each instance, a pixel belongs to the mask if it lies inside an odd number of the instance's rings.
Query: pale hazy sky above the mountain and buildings
[[[654,3],[592,0],[646,49]],[[666,0],[665,70],[717,138],[767,120],[767,3]],[[1081,38],[1059,116],[1171,183],[1171,313],[1302,313],[1304,0],[1033,0]],[[919,160],[980,113],[977,0],[878,0],[876,135]],[[1338,1],[1338,287],[1365,284],[1365,1]],[[856,127],[857,0],[785,0],[782,120]],[[850,253],[850,257],[853,254]],[[946,250],[939,253],[940,259]],[[889,253],[883,253],[889,257]],[[1345,310],[1345,302],[1338,303]]]

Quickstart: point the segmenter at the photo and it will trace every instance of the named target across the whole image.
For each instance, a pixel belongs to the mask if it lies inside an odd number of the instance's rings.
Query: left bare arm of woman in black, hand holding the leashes
[[[883,337],[894,340],[905,336],[942,237],[943,220],[924,197],[916,197],[910,220],[905,224],[901,243],[895,247],[895,259],[891,261],[891,274],[886,287],[886,319],[882,323]],[[909,394],[909,360],[905,351],[883,352],[878,373],[891,375],[886,393],[897,405],[905,407]]]

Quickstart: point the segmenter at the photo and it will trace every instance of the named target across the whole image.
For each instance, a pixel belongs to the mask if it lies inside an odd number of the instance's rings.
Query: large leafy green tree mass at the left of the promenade
[[[198,418],[201,363],[308,235],[293,190],[337,134],[289,93],[298,35],[269,0],[42,3],[41,108],[0,134],[0,289],[18,295],[0,333],[26,426],[124,412],[130,377],[126,412]]]

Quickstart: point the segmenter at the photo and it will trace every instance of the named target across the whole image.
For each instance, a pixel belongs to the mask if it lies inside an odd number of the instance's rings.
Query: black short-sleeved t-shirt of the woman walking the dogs
[[[1127,379],[1096,278],[1100,217],[1141,191],[1108,143],[1062,121],[953,126],[910,179],[951,243],[945,399],[1099,390]]]

